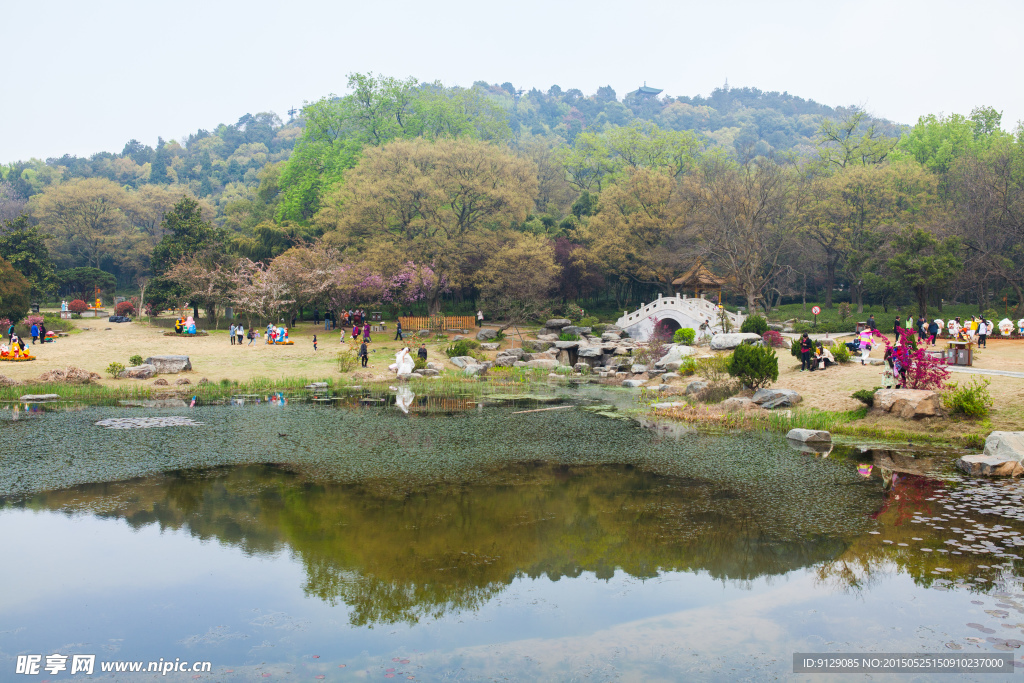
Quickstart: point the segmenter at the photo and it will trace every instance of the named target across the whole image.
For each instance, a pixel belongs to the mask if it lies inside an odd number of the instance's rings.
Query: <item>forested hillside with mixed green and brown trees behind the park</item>
[[[0,166],[0,256],[37,297],[95,268],[158,308],[612,309],[698,261],[746,306],[1024,301],[1022,136],[987,108],[911,128],[752,88],[347,86],[288,123]]]

